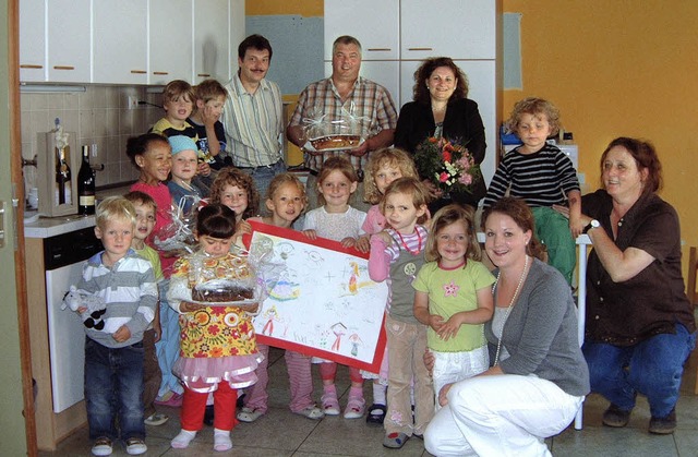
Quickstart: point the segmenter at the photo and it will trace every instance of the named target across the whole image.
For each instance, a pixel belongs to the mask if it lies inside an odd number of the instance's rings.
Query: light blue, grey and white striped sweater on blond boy
[[[87,337],[108,348],[123,348],[143,339],[143,332],[155,316],[157,285],[151,262],[133,250],[111,268],[101,262],[99,252],[83,267],[83,278],[77,285],[80,292],[100,297],[107,303],[104,315],[105,328],[86,328]],[[117,342],[111,334],[122,325],[131,330],[131,338]]]

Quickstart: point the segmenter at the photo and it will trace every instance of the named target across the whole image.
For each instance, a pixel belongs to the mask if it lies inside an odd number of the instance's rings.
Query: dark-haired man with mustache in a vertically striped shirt
[[[269,40],[262,35],[240,43],[240,70],[225,86],[228,98],[222,113],[232,164],[252,177],[263,197],[272,179],[286,171],[281,91],[265,79],[272,53]]]

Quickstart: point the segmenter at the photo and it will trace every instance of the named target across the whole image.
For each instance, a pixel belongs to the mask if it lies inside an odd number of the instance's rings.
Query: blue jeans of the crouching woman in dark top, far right
[[[675,334],[660,334],[627,347],[586,341],[581,349],[591,390],[625,411],[635,407],[640,393],[647,396],[652,417],[666,417],[676,406],[684,363],[696,346],[696,333],[689,334],[681,324],[675,329]]]

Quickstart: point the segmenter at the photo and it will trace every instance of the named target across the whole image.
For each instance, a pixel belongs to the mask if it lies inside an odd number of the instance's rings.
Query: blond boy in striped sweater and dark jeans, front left
[[[135,209],[123,197],[97,207],[95,236],[105,250],[83,267],[77,290],[107,304],[103,330],[85,327],[85,404],[92,453],[108,456],[121,437],[130,455],[147,446],[143,422],[143,333],[157,304],[153,267],[131,249]],[[118,288],[112,285],[118,284]],[[79,309],[79,312],[84,309]],[[119,428],[116,426],[117,421]]]

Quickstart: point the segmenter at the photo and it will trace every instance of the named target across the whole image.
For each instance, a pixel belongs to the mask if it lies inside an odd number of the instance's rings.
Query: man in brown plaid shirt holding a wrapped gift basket
[[[397,110],[388,91],[380,84],[359,76],[361,70],[361,44],[352,36],[340,36],[333,44],[332,76],[310,84],[298,98],[298,106],[286,129],[286,137],[303,148],[308,141],[304,120],[320,118],[334,125],[349,127],[347,113],[358,122],[351,133],[360,134],[364,142],[354,148],[316,152],[303,149],[305,167],[310,171],[305,190],[308,208],[317,207],[316,175],[328,157],[345,155],[359,173],[359,188],[350,205],[368,211],[371,205],[363,202],[363,169],[369,153],[393,144],[397,127]],[[327,132],[337,133],[337,132]]]

